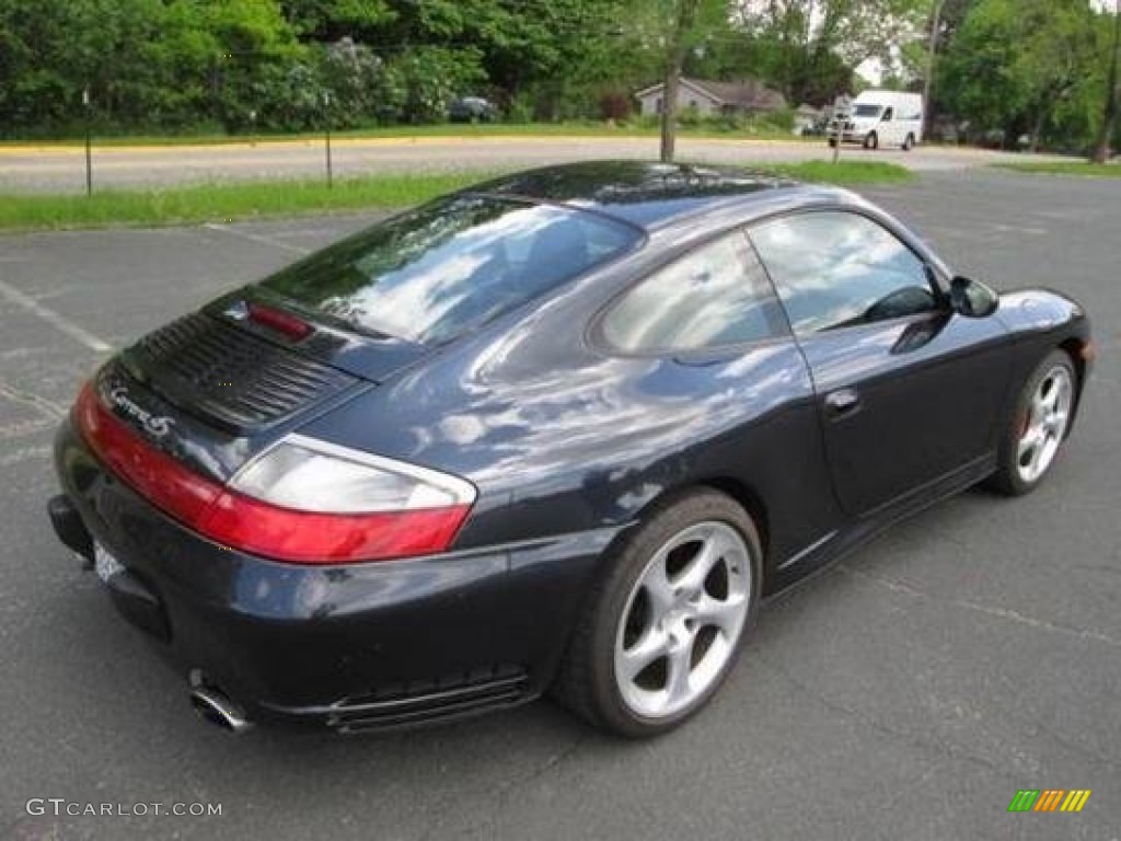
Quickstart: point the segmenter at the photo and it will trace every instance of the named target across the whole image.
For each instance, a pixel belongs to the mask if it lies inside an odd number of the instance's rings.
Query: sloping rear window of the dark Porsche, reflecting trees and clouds
[[[261,286],[363,332],[439,343],[622,253],[639,237],[585,211],[453,196],[373,225]]]

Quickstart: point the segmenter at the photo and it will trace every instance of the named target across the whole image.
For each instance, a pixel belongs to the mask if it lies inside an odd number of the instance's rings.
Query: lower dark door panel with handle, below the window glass
[[[934,314],[800,343],[847,512],[867,514],[993,447],[1009,372],[995,318]]]

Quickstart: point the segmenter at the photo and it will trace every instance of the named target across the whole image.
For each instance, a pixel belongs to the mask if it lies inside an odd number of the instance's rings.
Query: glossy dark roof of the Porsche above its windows
[[[663,227],[715,205],[769,204],[776,191],[818,195],[816,187],[740,167],[594,160],[503,176],[470,193],[509,195],[587,207],[641,228]]]

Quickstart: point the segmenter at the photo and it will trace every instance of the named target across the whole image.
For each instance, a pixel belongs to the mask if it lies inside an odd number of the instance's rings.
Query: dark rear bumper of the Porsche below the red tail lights
[[[615,529],[407,561],[305,566],[232,551],[55,442],[59,538],[123,566],[121,612],[251,719],[376,729],[528,701],[548,685]]]

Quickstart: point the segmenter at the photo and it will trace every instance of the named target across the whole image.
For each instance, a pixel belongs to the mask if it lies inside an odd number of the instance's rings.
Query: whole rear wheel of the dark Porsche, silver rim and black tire
[[[660,506],[611,560],[569,643],[556,691],[631,738],[680,724],[715,694],[756,614],[761,551],[715,490]]]

